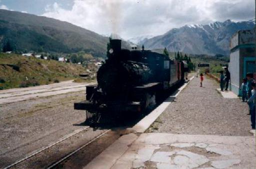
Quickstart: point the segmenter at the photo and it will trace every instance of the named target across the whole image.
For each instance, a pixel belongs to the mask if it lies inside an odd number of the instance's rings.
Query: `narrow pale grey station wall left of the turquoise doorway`
[[[240,58],[239,58],[239,49],[230,53],[230,61],[228,64],[228,70],[230,72],[230,88],[231,91],[235,94],[239,94],[240,86]]]

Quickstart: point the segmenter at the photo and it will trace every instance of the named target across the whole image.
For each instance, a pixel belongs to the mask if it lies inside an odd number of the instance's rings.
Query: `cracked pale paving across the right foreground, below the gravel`
[[[254,143],[252,137],[145,133],[111,169],[255,169]]]

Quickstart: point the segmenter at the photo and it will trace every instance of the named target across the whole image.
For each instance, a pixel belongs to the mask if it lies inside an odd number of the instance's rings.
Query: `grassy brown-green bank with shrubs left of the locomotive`
[[[73,63],[0,53],[0,90],[58,83],[84,72]]]

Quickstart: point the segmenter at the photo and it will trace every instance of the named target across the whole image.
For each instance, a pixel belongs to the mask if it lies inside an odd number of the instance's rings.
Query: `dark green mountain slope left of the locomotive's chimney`
[[[71,53],[105,56],[108,37],[44,16],[0,9],[0,42],[20,52]],[[1,46],[2,47],[2,46]]]

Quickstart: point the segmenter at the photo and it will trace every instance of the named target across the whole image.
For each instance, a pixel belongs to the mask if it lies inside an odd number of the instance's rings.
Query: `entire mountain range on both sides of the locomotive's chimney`
[[[122,47],[131,42],[146,49],[166,47],[169,51],[190,54],[229,54],[229,40],[238,30],[254,28],[254,21],[213,22],[184,25],[159,36],[137,36],[122,40]],[[145,38],[146,37],[146,38]],[[0,48],[9,42],[19,52],[72,53],[84,51],[105,57],[108,37],[93,31],[44,16],[0,9]]]

